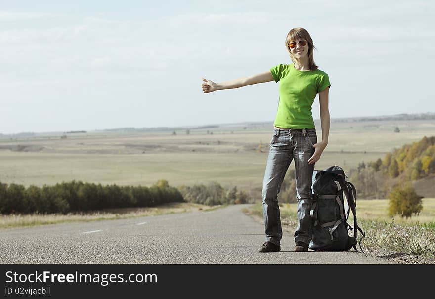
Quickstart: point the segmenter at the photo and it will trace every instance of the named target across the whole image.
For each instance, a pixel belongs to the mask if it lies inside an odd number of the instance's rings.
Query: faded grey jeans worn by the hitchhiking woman
[[[295,242],[302,241],[309,244],[311,241],[312,223],[309,210],[312,205],[311,185],[314,164],[308,164],[308,159],[314,154],[315,143],[317,143],[317,135],[314,128],[273,130],[262,189],[265,241],[280,245],[282,228],[278,193],[293,159],[298,200],[298,227],[295,231]]]

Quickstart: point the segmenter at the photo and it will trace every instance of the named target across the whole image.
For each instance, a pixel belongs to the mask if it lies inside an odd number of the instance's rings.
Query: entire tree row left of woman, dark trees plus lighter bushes
[[[251,196],[237,186],[208,185],[171,187],[161,179],[151,187],[118,186],[71,181],[53,186],[25,187],[0,182],[0,214],[68,214],[111,208],[152,207],[170,202],[209,206],[245,204]]]

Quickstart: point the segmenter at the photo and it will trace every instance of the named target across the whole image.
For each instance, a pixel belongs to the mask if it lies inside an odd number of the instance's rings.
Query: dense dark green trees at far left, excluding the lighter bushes
[[[24,187],[0,182],[0,214],[67,214],[109,208],[152,207],[183,202],[180,191],[160,180],[151,187],[62,182]]]

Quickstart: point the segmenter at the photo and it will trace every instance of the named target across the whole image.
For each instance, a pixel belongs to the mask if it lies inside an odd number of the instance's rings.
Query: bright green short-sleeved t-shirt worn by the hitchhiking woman
[[[311,106],[317,93],[331,86],[328,74],[321,70],[299,71],[294,64],[278,64],[270,69],[279,81],[279,103],[275,127],[315,128]]]

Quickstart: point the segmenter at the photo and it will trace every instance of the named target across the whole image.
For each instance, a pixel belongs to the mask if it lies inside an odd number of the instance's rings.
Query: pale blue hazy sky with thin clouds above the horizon
[[[435,112],[435,1],[0,0],[0,133],[272,122],[308,30],[331,118]],[[318,96],[312,107],[319,119]]]

